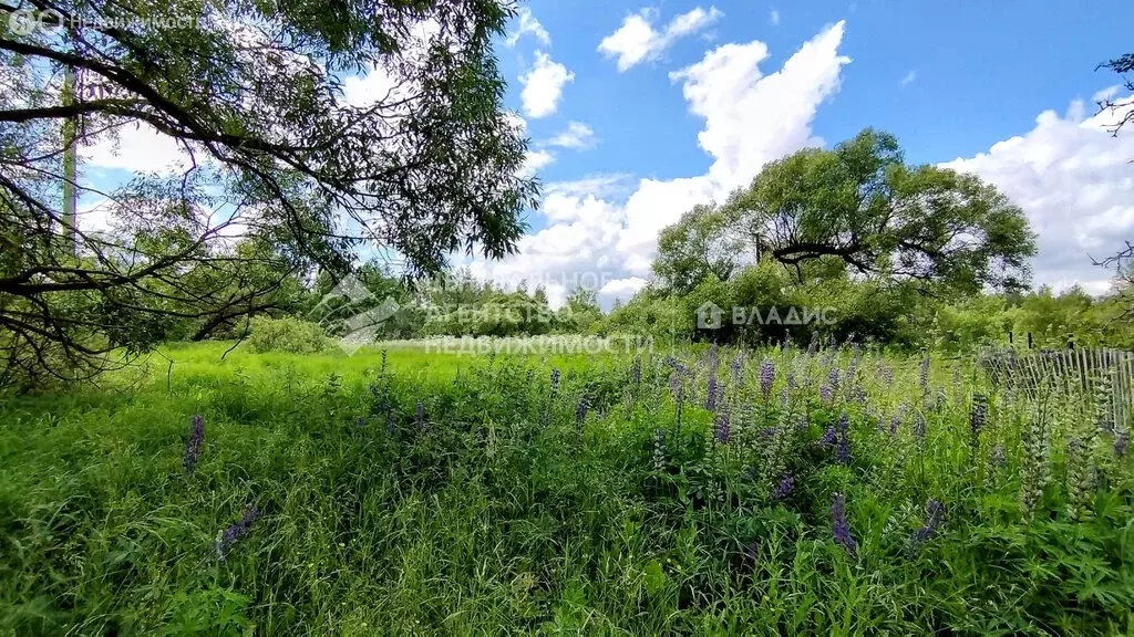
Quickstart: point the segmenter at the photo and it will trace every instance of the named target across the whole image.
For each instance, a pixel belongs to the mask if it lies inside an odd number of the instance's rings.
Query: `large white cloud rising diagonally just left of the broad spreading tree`
[[[843,23],[824,28],[767,76],[759,69],[768,57],[761,42],[719,46],[672,74],[689,110],[704,119],[697,139],[713,159],[709,171],[641,179],[624,204],[618,195],[625,176],[550,185],[541,210],[548,227],[525,236],[516,256],[473,262],[474,273],[556,282],[564,289],[583,282],[602,291],[607,307],[613,298],[625,300],[649,278],[663,227],[695,204],[747,184],[768,161],[821,143],[811,124],[819,104],[838,91],[840,70],[849,62],[838,53],[843,32]],[[547,287],[550,298],[552,286]]]

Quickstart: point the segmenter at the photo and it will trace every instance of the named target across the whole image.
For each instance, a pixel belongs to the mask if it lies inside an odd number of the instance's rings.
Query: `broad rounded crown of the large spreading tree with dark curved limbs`
[[[720,212],[727,222],[697,245],[736,232],[750,258],[771,258],[797,282],[811,269],[963,292],[1015,289],[1026,284],[1035,254],[1023,211],[995,187],[973,175],[907,165],[897,141],[871,129],[831,151],[769,163]],[[675,245],[688,244],[660,245],[659,260],[683,262],[693,252]]]

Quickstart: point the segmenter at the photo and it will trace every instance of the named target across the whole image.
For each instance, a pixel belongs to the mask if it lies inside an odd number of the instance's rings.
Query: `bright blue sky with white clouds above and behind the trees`
[[[1131,18],[1134,5],[1022,0],[532,0],[497,54],[543,198],[518,255],[454,264],[543,283],[552,305],[594,287],[609,306],[648,283],[657,235],[683,212],[872,126],[908,161],[975,172],[1019,205],[1039,233],[1035,284],[1103,292],[1091,256],[1134,238],[1134,130],[1106,125],[1134,102],[1095,66],[1131,50]],[[346,99],[389,86],[350,77]],[[1103,95],[1124,110],[1098,113]],[[109,186],[179,151],[127,127],[87,155],[85,178]]]

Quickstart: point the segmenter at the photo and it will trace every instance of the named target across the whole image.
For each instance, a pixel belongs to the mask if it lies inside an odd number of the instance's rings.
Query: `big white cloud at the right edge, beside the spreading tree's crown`
[[[1073,102],[1064,117],[1044,111],[1027,133],[941,164],[979,175],[1024,210],[1039,233],[1035,283],[1080,283],[1093,292],[1109,287],[1110,274],[1091,257],[1109,256],[1134,238],[1134,135],[1112,137],[1107,127],[1132,109],[1134,100],[1126,99],[1118,111],[1085,118],[1083,103]]]

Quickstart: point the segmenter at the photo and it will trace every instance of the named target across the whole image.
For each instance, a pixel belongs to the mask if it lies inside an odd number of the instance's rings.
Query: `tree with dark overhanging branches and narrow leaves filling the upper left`
[[[513,9],[499,0],[25,7],[62,24],[0,36],[9,366],[98,372],[115,348],[167,338],[170,317],[225,324],[314,267],[341,277],[362,243],[408,277],[457,249],[516,248],[538,192],[501,110],[491,42]],[[0,20],[16,9],[0,3]],[[348,101],[344,78],[366,70],[376,99]],[[76,144],[132,127],[171,139],[184,165],[113,192],[73,177]],[[77,222],[76,199],[101,201],[107,223]]]

